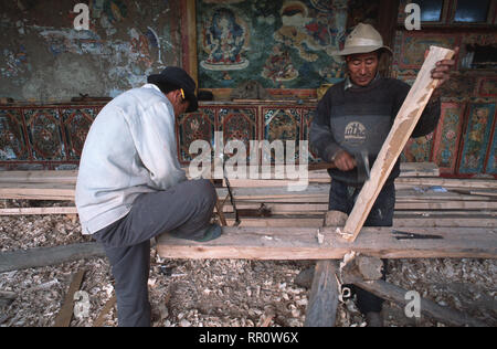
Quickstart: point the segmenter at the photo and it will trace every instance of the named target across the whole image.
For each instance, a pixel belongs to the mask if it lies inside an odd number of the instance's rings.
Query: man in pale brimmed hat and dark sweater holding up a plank
[[[458,49],[456,49],[457,54]],[[368,152],[369,163],[374,162],[394,118],[402,106],[410,86],[378,73],[380,56],[391,54],[383,45],[378,31],[369,24],[359,23],[348,35],[343,50],[336,52],[345,57],[347,77],[330,87],[317,107],[310,127],[310,146],[325,161],[332,161],[329,210],[350,214],[363,182],[357,177],[355,154]],[[454,61],[437,63],[432,77],[440,80],[438,87],[450,77]],[[413,137],[430,134],[436,127],[441,113],[440,89],[435,89]],[[400,173],[398,161],[380,192],[366,226],[391,226],[395,204],[394,179]],[[358,308],[367,316],[370,326],[381,326],[382,299],[356,288]]]

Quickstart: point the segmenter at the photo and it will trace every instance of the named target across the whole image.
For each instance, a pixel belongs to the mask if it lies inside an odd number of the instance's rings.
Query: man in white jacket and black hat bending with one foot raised
[[[150,326],[150,239],[209,241],[215,189],[187,180],[177,157],[175,117],[198,108],[195,83],[180,67],[114,98],[85,140],[76,183],[83,234],[104,245],[113,267],[119,326]]]

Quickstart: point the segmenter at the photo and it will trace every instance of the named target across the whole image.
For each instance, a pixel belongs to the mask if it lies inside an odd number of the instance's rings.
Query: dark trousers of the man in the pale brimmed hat
[[[331,180],[328,209],[350,214],[359,192],[360,188],[348,187],[343,182]],[[364,222],[364,226],[392,226],[394,205],[395,186],[392,181],[383,186],[383,189],[378,195],[377,201]],[[385,275],[387,260],[383,260],[383,279],[385,279]],[[353,285],[347,286],[356,293],[357,306],[362,314],[381,311],[383,299],[360,287]]]

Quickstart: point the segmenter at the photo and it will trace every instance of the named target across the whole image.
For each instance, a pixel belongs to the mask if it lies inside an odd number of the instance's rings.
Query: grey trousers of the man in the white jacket
[[[139,195],[126,216],[93,235],[112,265],[119,326],[150,326],[150,239],[172,230],[184,237],[205,230],[216,200],[209,180],[184,181]]]

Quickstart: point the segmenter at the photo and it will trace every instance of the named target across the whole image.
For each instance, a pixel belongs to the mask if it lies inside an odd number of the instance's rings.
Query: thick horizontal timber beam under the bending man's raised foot
[[[404,228],[415,234],[440,235],[440,240],[396,240],[392,228],[363,228],[353,243],[345,241],[334,228],[223,228],[210,242],[197,243],[162,234],[157,251],[167,258],[247,260],[341,260],[356,251],[382,258],[497,257],[496,229]]]

